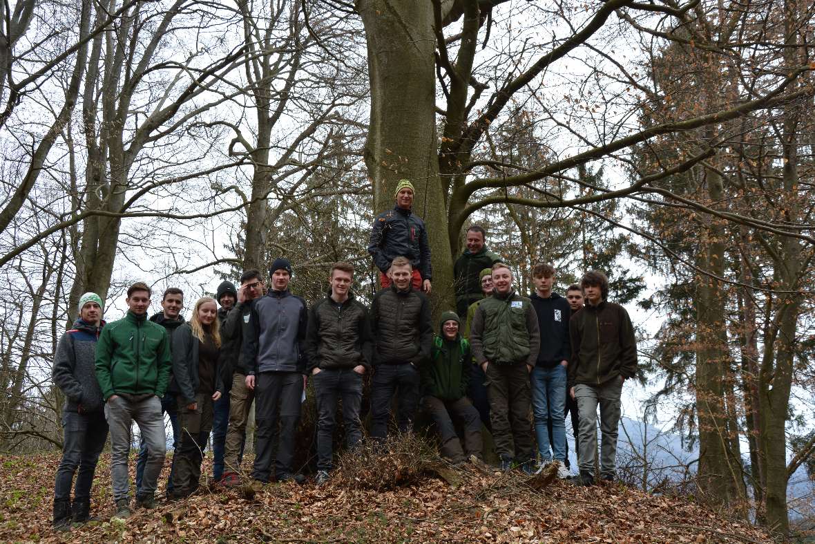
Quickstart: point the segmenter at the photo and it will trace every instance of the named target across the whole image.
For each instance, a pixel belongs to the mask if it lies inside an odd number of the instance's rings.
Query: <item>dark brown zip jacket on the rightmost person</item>
[[[618,376],[637,374],[637,340],[628,312],[605,300],[588,303],[571,316],[569,387],[575,383],[598,386]]]

